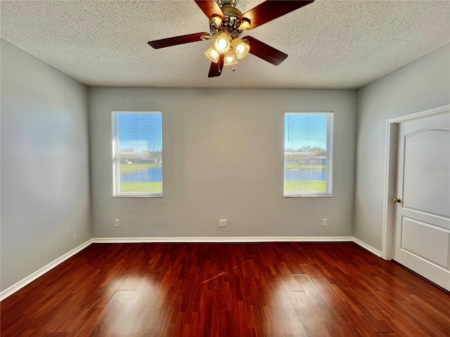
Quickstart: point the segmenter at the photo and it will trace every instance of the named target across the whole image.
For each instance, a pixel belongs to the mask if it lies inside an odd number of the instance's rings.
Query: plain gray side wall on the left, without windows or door
[[[90,238],[87,88],[1,39],[1,290]]]

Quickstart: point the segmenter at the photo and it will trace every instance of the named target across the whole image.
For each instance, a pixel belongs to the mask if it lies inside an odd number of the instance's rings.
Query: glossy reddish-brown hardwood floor
[[[91,244],[1,336],[450,336],[450,293],[353,243]]]

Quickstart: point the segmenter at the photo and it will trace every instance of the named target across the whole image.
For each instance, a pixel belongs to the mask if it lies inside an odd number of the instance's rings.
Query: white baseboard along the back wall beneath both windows
[[[93,243],[144,242],[353,242],[353,237],[96,237]]]

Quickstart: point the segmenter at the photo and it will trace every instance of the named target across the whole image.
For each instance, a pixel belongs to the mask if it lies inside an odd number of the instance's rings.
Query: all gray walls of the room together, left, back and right
[[[381,249],[386,119],[447,103],[450,44],[358,92],[88,93],[1,40],[1,290],[91,237],[354,235]],[[163,198],[112,197],[111,110],[120,109],[163,112]],[[335,112],[333,197],[283,197],[286,110]]]

